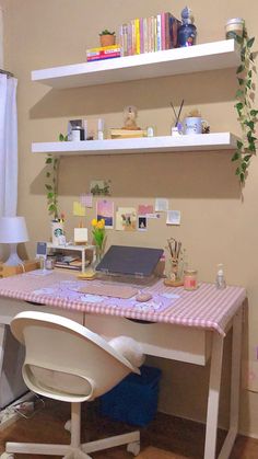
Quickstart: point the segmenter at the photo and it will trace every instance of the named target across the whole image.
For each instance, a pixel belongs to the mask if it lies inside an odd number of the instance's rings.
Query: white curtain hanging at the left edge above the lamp
[[[15,78],[0,74],[0,216],[17,207],[17,112]]]

